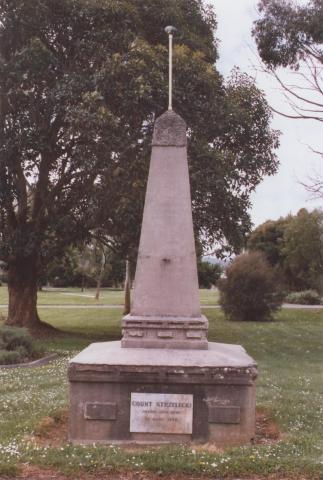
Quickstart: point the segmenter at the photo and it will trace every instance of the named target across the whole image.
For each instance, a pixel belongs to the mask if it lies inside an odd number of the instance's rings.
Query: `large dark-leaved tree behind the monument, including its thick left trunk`
[[[37,278],[91,233],[135,248],[153,122],[188,123],[193,215],[204,242],[238,250],[250,193],[277,168],[277,132],[253,81],[215,68],[201,0],[0,0],[0,260],[8,323],[38,327]]]

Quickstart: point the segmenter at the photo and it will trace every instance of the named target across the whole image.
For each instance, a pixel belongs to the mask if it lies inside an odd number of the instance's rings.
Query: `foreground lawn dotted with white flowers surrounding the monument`
[[[195,446],[126,450],[35,443],[45,417],[68,405],[67,362],[92,340],[120,338],[122,309],[41,310],[43,320],[71,332],[42,341],[59,358],[35,369],[0,369],[0,476],[34,464],[65,472],[183,472],[213,478],[284,474],[323,478],[323,312],[283,310],[271,323],[235,323],[205,313],[209,339],[240,343],[259,365],[257,405],[282,432],[275,443],[212,452]],[[73,477],[74,478],[74,477]]]

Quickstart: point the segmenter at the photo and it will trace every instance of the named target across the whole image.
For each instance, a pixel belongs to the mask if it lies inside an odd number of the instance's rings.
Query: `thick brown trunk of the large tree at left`
[[[7,325],[37,328],[37,258],[18,259],[9,264],[9,308]]]

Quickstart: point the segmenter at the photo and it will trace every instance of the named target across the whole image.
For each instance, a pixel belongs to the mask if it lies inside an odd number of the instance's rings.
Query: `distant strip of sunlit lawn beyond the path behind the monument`
[[[103,288],[100,299],[95,300],[95,289],[88,288],[81,292],[80,288],[60,288],[38,292],[38,305],[123,305],[124,293],[118,288]],[[217,290],[200,290],[202,305],[215,305],[218,303]],[[0,287],[0,305],[8,303],[8,289]]]

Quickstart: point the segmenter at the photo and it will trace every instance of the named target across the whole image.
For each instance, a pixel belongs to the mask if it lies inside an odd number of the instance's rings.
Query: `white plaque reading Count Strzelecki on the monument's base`
[[[130,432],[192,433],[193,395],[132,393]]]

